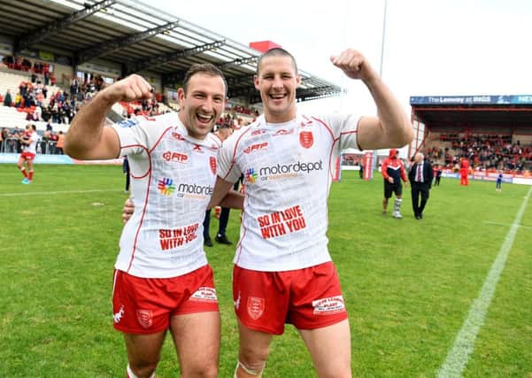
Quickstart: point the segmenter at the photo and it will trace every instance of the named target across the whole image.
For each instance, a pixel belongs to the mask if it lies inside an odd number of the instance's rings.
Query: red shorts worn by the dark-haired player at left
[[[114,272],[113,326],[122,332],[154,334],[167,329],[173,315],[218,311],[211,266],[172,278]]]

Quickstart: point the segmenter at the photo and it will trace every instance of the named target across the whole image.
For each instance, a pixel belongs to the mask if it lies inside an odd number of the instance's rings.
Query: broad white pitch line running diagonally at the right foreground
[[[530,193],[532,193],[532,188],[528,190],[527,197],[525,197],[525,200],[520,205],[519,212],[517,212],[515,220],[513,220],[512,227],[508,231],[508,234],[506,234],[505,242],[501,246],[497,258],[491,266],[490,273],[482,285],[480,295],[474,300],[473,305],[471,305],[467,318],[459,330],[459,334],[456,336],[451,351],[447,354],[447,359],[445,359],[445,362],[443,362],[443,365],[438,371],[438,378],[461,377],[463,370],[466,368],[469,356],[474,349],[474,341],[484,324],[486,312],[488,312],[491,299],[495,294],[498,279],[505,268],[506,258],[512,249],[513,239],[519,229],[520,220],[527,207]]]

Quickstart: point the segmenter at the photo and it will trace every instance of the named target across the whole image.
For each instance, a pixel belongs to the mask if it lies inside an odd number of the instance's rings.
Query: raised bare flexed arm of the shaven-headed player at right
[[[330,59],[347,77],[363,81],[377,106],[378,118],[362,117],[359,121],[359,146],[375,150],[412,142],[412,123],[405,110],[366,58],[357,50],[347,49]]]

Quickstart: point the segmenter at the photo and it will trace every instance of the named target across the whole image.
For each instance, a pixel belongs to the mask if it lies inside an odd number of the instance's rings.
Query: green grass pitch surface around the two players
[[[0,376],[122,377],[112,329],[112,266],[122,228],[120,166],[36,166],[21,185],[0,165]],[[89,191],[92,190],[92,191]],[[353,376],[429,377],[443,364],[529,187],[442,179],[423,220],[405,189],[403,220],[382,216],[382,178],[344,172],[329,198],[329,250],[350,314]],[[66,193],[70,191],[70,193]],[[83,192],[89,191],[89,192]],[[532,377],[532,202],[528,202],[465,377]],[[211,234],[218,221],[212,219]],[[238,238],[231,212],[229,239]],[[220,377],[238,348],[234,246],[207,248],[222,319]],[[170,337],[158,377],[179,375]],[[274,337],[265,377],[315,376],[297,331]]]

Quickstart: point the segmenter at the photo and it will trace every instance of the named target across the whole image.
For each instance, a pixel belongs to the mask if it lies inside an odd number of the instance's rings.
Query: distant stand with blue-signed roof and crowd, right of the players
[[[411,97],[417,135],[411,153],[457,171],[529,175],[532,170],[532,96]]]

